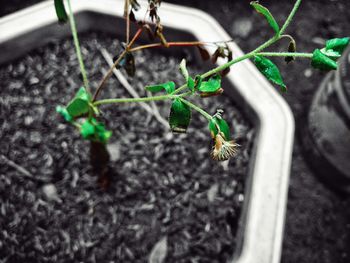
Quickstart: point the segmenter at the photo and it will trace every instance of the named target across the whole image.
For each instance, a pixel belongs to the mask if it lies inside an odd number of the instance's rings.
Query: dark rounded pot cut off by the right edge
[[[302,140],[316,174],[331,188],[350,194],[350,48],[312,101]]]

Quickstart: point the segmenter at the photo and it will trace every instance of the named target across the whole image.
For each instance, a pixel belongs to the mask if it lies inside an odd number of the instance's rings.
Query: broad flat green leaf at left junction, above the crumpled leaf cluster
[[[72,117],[80,116],[89,111],[91,95],[84,87],[81,87],[74,99],[69,102],[67,111]]]

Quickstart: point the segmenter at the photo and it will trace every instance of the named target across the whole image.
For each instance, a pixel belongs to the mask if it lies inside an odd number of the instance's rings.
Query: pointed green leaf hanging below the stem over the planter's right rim
[[[268,80],[280,86],[283,92],[287,91],[279,69],[271,60],[265,57],[255,56],[254,63]]]

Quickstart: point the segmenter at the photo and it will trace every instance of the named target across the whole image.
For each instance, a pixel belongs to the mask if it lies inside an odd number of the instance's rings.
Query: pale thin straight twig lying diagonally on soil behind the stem
[[[102,48],[100,50],[102,56],[106,60],[109,66],[113,65],[113,60],[110,54],[107,52],[106,49]],[[120,84],[129,92],[129,94],[134,98],[140,98],[140,95],[137,93],[137,91],[129,84],[128,80],[121,74],[119,70],[116,68],[113,69],[114,75],[119,80]],[[140,102],[140,106],[144,108],[148,113],[152,114],[166,129],[169,128],[168,122],[160,115],[158,109],[156,107],[150,107],[145,102]]]

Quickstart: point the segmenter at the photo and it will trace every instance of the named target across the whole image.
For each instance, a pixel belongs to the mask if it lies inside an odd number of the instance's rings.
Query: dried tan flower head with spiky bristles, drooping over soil
[[[215,136],[215,145],[211,156],[216,161],[226,161],[237,153],[237,147],[239,144],[234,141],[226,141],[224,137],[225,136],[222,132],[219,132]]]

